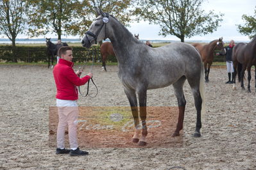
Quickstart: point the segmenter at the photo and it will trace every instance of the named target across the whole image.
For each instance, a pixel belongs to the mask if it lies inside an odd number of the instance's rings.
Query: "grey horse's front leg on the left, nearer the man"
[[[138,116],[138,104],[137,97],[134,89],[124,88],[124,93],[130,102],[130,106],[132,109],[132,116],[135,125],[135,133],[132,137],[133,143],[139,143],[139,134],[141,130],[139,129],[139,116]]]

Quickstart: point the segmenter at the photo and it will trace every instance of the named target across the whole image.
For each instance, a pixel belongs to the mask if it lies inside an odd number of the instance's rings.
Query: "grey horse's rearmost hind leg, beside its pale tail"
[[[197,79],[198,78],[198,79]],[[187,78],[189,85],[191,86],[192,93],[194,96],[194,105],[196,106],[196,131],[194,132],[194,137],[200,137],[201,129],[201,106],[202,98],[200,95],[200,77]]]

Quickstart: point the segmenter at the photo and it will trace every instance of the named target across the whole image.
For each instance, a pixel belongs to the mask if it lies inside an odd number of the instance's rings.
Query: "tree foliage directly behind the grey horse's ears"
[[[85,35],[85,31],[89,29],[92,20],[98,17],[96,8],[101,8],[104,12],[114,15],[124,26],[129,26],[132,21],[132,10],[135,0],[83,0],[80,11],[80,23],[77,25],[80,29],[76,29],[76,33],[81,36]]]

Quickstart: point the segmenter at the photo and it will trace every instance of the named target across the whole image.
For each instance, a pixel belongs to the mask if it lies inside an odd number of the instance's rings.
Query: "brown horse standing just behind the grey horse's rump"
[[[214,60],[214,51],[221,50],[224,52],[225,43],[222,41],[223,38],[219,38],[219,40],[213,40],[210,43],[202,45],[201,43],[192,43],[196,49],[200,52],[201,59],[205,66],[205,82],[209,82],[209,73],[210,73],[210,66],[212,65],[212,61]],[[208,68],[207,68],[208,66]]]

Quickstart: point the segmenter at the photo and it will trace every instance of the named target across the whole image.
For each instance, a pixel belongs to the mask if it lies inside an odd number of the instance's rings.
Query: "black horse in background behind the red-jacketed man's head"
[[[61,43],[60,45],[56,45],[51,42],[51,38],[46,38],[47,45],[47,56],[48,56],[48,68],[50,66],[50,58],[51,58],[51,67],[53,68],[53,58],[57,55],[58,49],[62,46],[69,46],[67,43]]]

